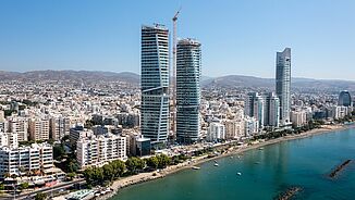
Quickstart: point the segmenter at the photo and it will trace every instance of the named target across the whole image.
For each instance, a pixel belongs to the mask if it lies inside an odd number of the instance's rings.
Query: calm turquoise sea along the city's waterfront
[[[327,175],[355,159],[355,129],[333,132],[267,146],[264,150],[206,162],[166,178],[130,186],[113,200],[253,200],[274,199],[291,186],[303,190],[294,199],[355,199],[355,161],[335,178]],[[242,175],[238,176],[237,173]]]

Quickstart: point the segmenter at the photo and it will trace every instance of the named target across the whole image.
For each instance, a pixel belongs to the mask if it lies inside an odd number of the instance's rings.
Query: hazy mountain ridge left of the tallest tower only
[[[77,82],[126,82],[139,84],[139,75],[123,72],[99,72],[99,71],[32,71],[25,73],[0,72],[1,80],[77,80]]]

